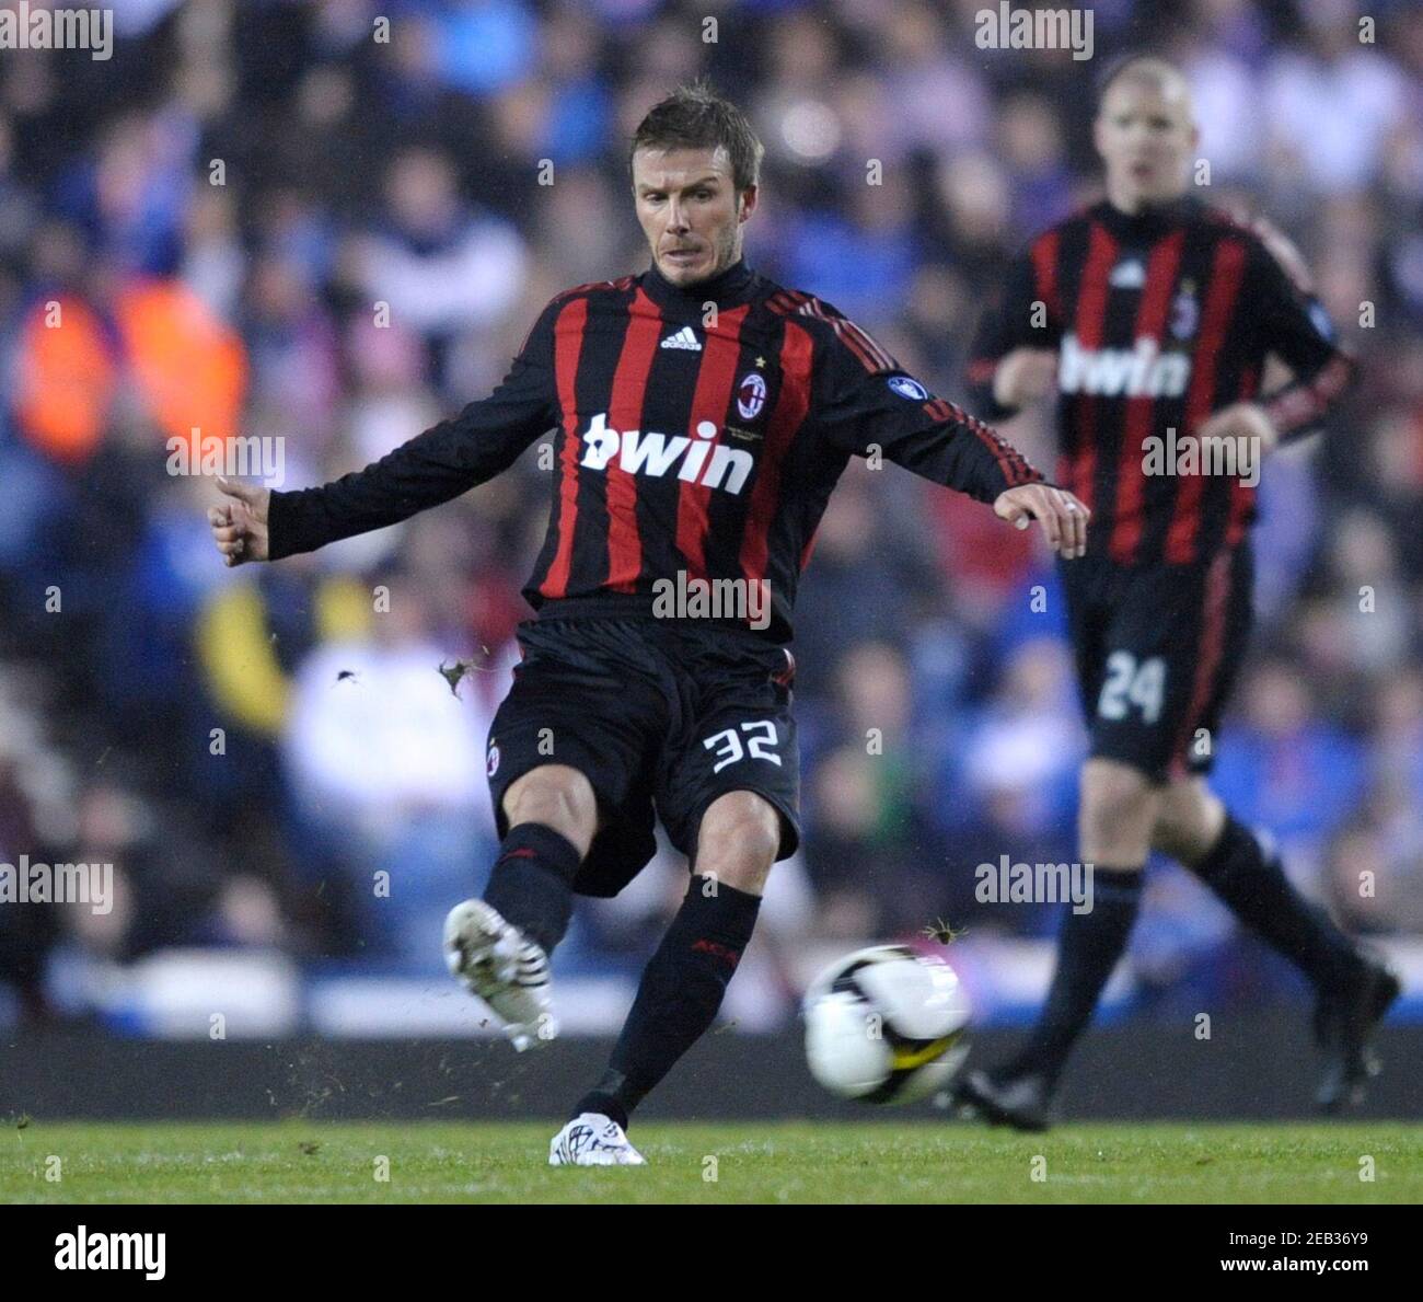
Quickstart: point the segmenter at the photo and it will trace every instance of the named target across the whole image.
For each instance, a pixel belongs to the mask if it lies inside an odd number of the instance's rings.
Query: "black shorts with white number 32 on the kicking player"
[[[707,805],[754,791],[781,815],[777,859],[800,844],[794,660],[734,628],[653,618],[527,620],[514,687],[490,727],[499,837],[504,793],[531,768],[568,764],[598,795],[601,827],[573,879],[616,895],[656,852],[653,813],[694,855]]]

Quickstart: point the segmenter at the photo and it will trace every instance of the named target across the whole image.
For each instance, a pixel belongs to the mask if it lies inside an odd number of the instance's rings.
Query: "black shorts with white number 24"
[[[1210,773],[1249,640],[1249,544],[1192,565],[1060,561],[1091,754],[1155,783]]]

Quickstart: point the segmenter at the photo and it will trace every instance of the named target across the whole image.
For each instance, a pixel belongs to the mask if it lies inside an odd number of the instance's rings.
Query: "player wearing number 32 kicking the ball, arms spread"
[[[1020,528],[1036,518],[1062,556],[1086,551],[1070,492],[834,307],[746,266],[760,158],[706,88],[657,104],[632,149],[647,272],[561,293],[488,398],[374,465],[300,492],[225,484],[231,504],[209,514],[229,565],[275,561],[445,502],[556,428],[548,538],[524,589],[538,618],[519,626],[490,730],[502,844],[484,898],[445,922],[451,970],[517,1046],[551,1039],[548,956],[573,895],[616,895],[647,864],[655,810],[693,877],[554,1165],[642,1163],[628,1116],[712,1025],[771,864],[795,850],[785,643],[850,458],[878,451]],[[707,581],[768,593],[768,618],[657,618],[659,589]]]

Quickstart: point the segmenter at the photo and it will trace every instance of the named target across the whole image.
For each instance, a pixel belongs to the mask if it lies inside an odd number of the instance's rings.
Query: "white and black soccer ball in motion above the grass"
[[[805,1057],[831,1094],[914,1103],[968,1057],[969,1002],[953,969],[905,945],[875,945],[831,963],[803,1003]]]

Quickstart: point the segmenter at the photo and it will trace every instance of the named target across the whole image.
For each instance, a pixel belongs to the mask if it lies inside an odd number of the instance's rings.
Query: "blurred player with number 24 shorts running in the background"
[[[1079,852],[1096,865],[1094,908],[1064,921],[1026,1047],[959,1084],[988,1120],[1023,1130],[1046,1126],[1126,948],[1151,850],[1313,982],[1325,1108],[1362,1093],[1376,1070],[1369,1032],[1399,993],[1205,785],[1251,623],[1259,458],[1318,423],[1353,363],[1294,248],[1188,196],[1197,139],[1181,74],[1157,58],[1121,64],[1096,122],[1106,202],[1032,243],[970,361],[975,401],[993,418],[1056,394],[1059,478],[1096,512],[1086,559],[1063,569],[1091,730]],[[1262,396],[1269,354],[1294,381]]]

